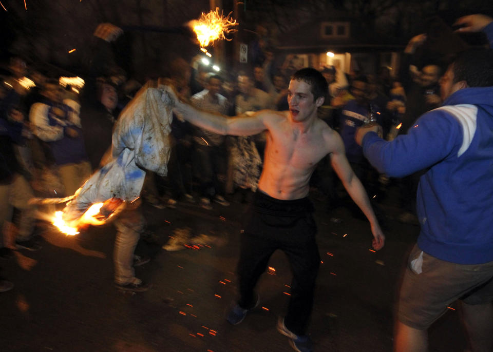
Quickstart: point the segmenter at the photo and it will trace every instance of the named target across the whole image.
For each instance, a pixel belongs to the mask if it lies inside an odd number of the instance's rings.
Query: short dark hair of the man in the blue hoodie
[[[472,49],[457,54],[452,71],[453,83],[466,81],[469,87],[493,86],[493,50]]]

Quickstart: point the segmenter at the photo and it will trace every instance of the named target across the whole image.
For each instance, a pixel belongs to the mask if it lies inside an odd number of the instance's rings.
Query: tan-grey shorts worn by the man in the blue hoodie
[[[428,255],[415,245],[401,286],[399,321],[425,330],[458,299],[467,304],[493,300],[493,261],[450,263]]]

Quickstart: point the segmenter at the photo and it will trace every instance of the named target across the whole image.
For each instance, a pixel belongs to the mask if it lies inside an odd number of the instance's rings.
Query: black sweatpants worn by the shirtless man
[[[313,305],[320,255],[317,231],[308,198],[282,201],[257,191],[245,218],[238,262],[243,309],[255,305],[254,288],[276,249],[286,253],[293,272],[291,299],[285,324],[296,335],[305,335]]]

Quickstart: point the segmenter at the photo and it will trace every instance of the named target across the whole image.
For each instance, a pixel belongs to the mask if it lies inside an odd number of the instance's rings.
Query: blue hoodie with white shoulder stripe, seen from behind
[[[493,87],[465,88],[392,142],[363,139],[370,163],[391,177],[427,169],[418,186],[418,245],[458,264],[493,261]]]

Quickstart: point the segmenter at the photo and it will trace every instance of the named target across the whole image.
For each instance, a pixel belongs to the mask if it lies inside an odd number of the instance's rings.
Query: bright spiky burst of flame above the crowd
[[[233,27],[238,26],[238,23],[230,15],[231,12],[227,16],[223,16],[222,11],[219,14],[219,8],[216,7],[216,11],[211,10],[207,14],[202,12],[202,16],[198,20],[194,19],[189,22],[189,26],[197,34],[201,48],[213,44],[216,40],[231,40],[227,39],[224,33],[236,32]]]

